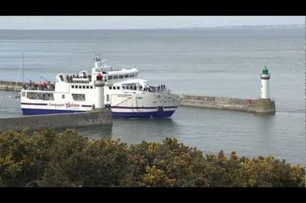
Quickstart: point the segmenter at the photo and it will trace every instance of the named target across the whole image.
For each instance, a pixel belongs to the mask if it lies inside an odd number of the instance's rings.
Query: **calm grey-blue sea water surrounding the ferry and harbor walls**
[[[124,142],[174,136],[204,152],[275,155],[305,163],[305,28],[232,27],[129,31],[0,31],[0,80],[90,71],[94,53],[114,68],[181,93],[258,98],[260,70],[270,68],[275,115],[179,107],[171,119],[118,119],[112,127],[80,128],[84,136]],[[21,76],[19,75],[19,80]],[[0,117],[21,115],[19,100],[0,92]]]

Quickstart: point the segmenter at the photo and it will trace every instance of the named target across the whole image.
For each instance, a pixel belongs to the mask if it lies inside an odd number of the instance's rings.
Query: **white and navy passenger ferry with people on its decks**
[[[51,84],[32,83],[21,90],[24,115],[75,113],[111,108],[113,118],[169,118],[182,96],[164,85],[152,86],[138,77],[137,68],[114,70],[94,56],[92,73],[59,73]]]

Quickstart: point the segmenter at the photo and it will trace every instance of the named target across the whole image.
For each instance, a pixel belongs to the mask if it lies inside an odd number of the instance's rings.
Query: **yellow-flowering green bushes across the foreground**
[[[203,155],[175,138],[127,145],[75,130],[0,135],[0,186],[305,187],[305,169],[270,157]]]

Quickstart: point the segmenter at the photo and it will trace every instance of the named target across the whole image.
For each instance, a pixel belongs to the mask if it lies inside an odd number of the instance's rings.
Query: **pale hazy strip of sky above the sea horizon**
[[[0,16],[0,29],[130,29],[305,24],[305,16]]]

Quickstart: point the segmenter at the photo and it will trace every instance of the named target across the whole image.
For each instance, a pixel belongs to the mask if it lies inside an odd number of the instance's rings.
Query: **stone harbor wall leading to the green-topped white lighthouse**
[[[270,99],[184,95],[181,105],[223,110],[239,110],[250,113],[275,113],[275,101]]]

